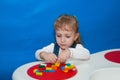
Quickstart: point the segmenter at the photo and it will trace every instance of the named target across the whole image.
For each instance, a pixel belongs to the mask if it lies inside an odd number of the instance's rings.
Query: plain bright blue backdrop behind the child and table
[[[0,80],[11,80],[34,52],[54,41],[61,14],[78,18],[83,44],[92,53],[120,48],[119,0],[0,0]]]

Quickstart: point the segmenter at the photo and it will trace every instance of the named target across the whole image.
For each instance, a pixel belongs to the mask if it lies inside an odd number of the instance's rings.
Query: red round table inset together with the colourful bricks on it
[[[77,72],[73,64],[58,62],[36,64],[27,70],[27,74],[37,80],[66,80],[75,76]]]

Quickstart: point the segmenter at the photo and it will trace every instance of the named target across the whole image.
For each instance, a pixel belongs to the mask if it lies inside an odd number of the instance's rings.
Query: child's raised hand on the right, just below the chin
[[[70,51],[69,49],[62,50],[61,53],[58,56],[57,62],[64,63],[67,61],[67,59],[70,57]]]

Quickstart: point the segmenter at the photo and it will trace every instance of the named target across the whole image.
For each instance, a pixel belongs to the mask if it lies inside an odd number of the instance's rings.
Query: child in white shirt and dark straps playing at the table
[[[36,51],[38,60],[51,63],[66,62],[68,59],[89,59],[90,53],[81,44],[78,21],[74,16],[61,15],[54,24],[56,43]]]

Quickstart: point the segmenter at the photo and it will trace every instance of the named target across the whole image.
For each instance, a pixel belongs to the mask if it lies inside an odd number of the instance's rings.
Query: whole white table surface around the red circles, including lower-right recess
[[[114,76],[115,73],[120,74],[120,64],[110,62],[104,58],[104,55],[107,52],[116,51],[116,50],[120,51],[120,49],[111,49],[111,50],[105,50],[105,51],[91,54],[91,58],[88,61],[80,61],[80,60],[68,61],[69,63],[74,64],[78,69],[78,73],[74,77],[70,78],[69,80],[100,80],[100,79],[105,80],[106,79],[105,76],[107,75]],[[39,63],[42,63],[42,62],[40,61],[31,62],[18,67],[12,75],[12,80],[35,80],[32,77],[27,75],[27,70],[31,66]],[[110,73],[113,73],[113,74],[110,74]],[[105,76],[100,74],[104,74]],[[101,76],[102,78],[100,78]],[[119,75],[117,76],[115,75],[115,78],[116,79],[110,78],[109,80],[120,80]]]

